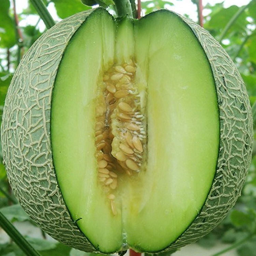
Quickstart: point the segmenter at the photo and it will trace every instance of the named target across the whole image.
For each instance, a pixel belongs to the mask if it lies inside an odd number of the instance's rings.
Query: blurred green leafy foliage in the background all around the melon
[[[111,0],[108,1],[112,2]],[[191,1],[198,4],[198,0]],[[43,2],[46,5],[54,4],[59,17],[58,20],[90,8],[81,4],[80,0],[43,0]],[[172,5],[171,1],[162,0],[150,0],[141,3],[144,14],[164,7],[170,8]],[[6,91],[20,59],[43,32],[39,29],[40,16],[31,2],[29,2],[28,8],[18,15],[16,15],[14,6],[14,0],[0,0],[0,115],[2,115]],[[204,28],[221,42],[236,63],[253,105],[256,100],[256,0],[252,0],[248,5],[241,8],[236,5],[224,8],[223,3],[207,4],[204,6],[204,10],[207,10],[208,13],[204,16]],[[18,26],[21,21],[27,20],[29,17],[37,17],[38,22],[34,26],[29,24]],[[255,109],[254,105],[253,111]],[[252,164],[242,196],[221,225],[198,242],[200,246],[211,247],[218,241],[222,241],[227,244],[225,251],[236,248],[240,256],[256,256],[255,153],[256,148],[253,152]],[[1,148],[0,211],[12,223],[31,222],[17,204],[9,187],[2,164]],[[46,239],[43,232],[41,238],[26,237],[26,239],[42,256],[86,255],[56,241]],[[222,255],[225,251],[214,254],[214,256]],[[11,239],[4,243],[1,243],[0,239],[0,255],[23,256],[25,254]]]

